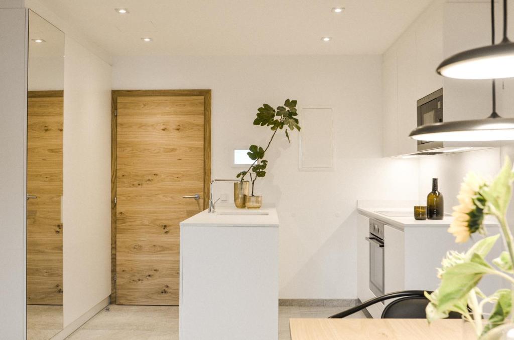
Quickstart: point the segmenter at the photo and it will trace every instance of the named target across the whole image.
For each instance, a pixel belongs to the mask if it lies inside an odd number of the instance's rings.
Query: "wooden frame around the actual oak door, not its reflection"
[[[112,90],[111,102],[111,296],[116,304],[116,167],[118,97],[198,96],[204,97],[204,209],[208,207],[211,182],[211,90]]]

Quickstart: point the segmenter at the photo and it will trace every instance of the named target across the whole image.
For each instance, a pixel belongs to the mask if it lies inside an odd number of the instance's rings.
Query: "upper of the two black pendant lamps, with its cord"
[[[514,77],[514,43],[507,38],[507,0],[503,0],[502,42],[494,45],[493,41],[491,46],[457,53],[445,59],[437,67],[437,73],[458,79]]]

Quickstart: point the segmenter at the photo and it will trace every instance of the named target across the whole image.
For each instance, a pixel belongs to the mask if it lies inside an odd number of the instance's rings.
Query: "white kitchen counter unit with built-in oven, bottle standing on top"
[[[416,202],[398,204],[392,202],[359,201],[357,211],[357,297],[366,301],[383,293],[400,290],[435,290],[440,280],[436,268],[449,250],[467,251],[473,241],[456,244],[448,233],[453,218],[416,221],[413,206]],[[409,206],[410,205],[410,206]],[[370,221],[372,224],[370,225]],[[375,221],[376,223],[374,223]],[[373,224],[383,226],[382,245],[373,242]],[[500,233],[500,226],[492,219],[484,223],[488,235]],[[473,235],[474,241],[482,237]],[[370,242],[366,238],[371,238]],[[379,250],[381,249],[381,250]],[[502,251],[501,241],[493,247],[486,259],[490,262]],[[370,256],[372,254],[372,256]],[[373,292],[377,286],[383,292]],[[479,284],[486,294],[503,287],[501,279],[489,275]],[[367,308],[370,314],[380,317],[385,305],[378,303]]]

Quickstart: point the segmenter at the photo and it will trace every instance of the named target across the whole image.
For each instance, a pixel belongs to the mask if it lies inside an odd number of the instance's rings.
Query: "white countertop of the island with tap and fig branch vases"
[[[215,213],[210,214],[207,210],[204,210],[180,222],[180,226],[278,227],[279,217],[275,208],[249,210],[235,207],[218,207]]]

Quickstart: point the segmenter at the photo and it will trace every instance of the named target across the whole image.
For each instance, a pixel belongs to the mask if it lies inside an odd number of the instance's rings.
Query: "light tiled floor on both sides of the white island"
[[[290,340],[289,318],[328,317],[348,307],[279,307],[279,340]],[[361,312],[353,317],[364,318]],[[69,340],[176,340],[178,307],[116,306],[101,311]]]

